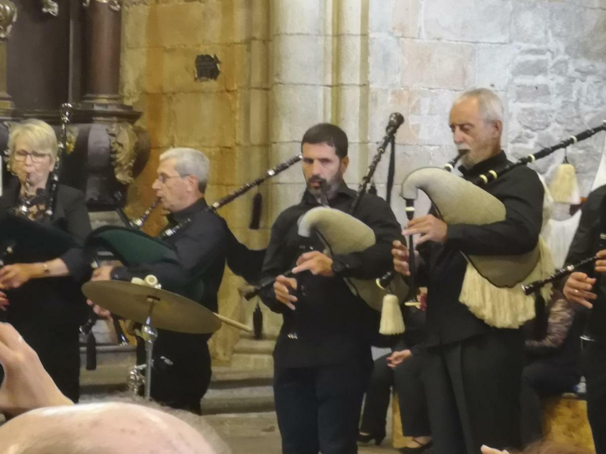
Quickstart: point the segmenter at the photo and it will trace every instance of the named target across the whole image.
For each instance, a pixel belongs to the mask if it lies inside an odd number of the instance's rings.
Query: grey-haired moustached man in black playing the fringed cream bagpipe
[[[454,101],[449,123],[462,155],[460,170],[465,179],[473,180],[510,162],[501,150],[503,107],[492,91],[462,94]],[[544,189],[537,174],[525,166],[502,174],[484,189],[504,205],[504,220],[448,225],[428,214],[408,222],[402,232],[420,235],[418,280],[428,289],[424,382],[438,453],[471,454],[478,453],[482,444],[504,449],[520,442],[522,333],[518,324],[504,327],[482,319],[462,303],[462,289],[470,273],[463,254],[499,256],[533,251],[541,231]],[[452,202],[461,204],[461,210],[485,209],[472,200]],[[392,254],[396,271],[407,274],[407,249],[398,242]],[[512,312],[522,306],[516,298],[510,298]],[[491,301],[484,298],[481,303]]]

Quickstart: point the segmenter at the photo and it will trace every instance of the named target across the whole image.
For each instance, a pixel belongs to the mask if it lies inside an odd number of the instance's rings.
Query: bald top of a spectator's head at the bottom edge
[[[215,454],[200,433],[175,416],[127,403],[32,410],[0,427],[0,452]]]

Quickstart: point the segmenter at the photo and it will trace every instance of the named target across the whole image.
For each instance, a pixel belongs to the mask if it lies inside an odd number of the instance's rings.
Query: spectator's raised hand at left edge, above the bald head
[[[0,411],[18,415],[39,407],[73,405],[44,370],[36,352],[8,323],[0,323]]]

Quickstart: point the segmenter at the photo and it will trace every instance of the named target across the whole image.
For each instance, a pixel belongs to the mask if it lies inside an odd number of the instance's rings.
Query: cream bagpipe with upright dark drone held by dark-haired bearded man
[[[356,219],[355,212],[359,203],[367,192],[368,183],[370,183],[376,166],[385,153],[387,145],[395,138],[396,131],[404,122],[402,114],[393,113],[390,116],[385,136],[379,145],[373,160],[368,166],[368,171],[362,178],[356,197],[351,203],[349,212],[344,212],[328,206],[318,206],[305,212],[298,221],[298,234],[301,237],[308,238],[313,233],[317,234],[324,246],[324,254],[332,257],[340,254],[351,254],[353,252],[364,251],[376,244],[375,232],[359,219]],[[344,234],[347,232],[347,234]],[[293,273],[285,271],[286,277],[293,277]],[[404,298],[408,292],[408,286],[402,278],[393,281],[388,288],[381,289],[375,285],[374,280],[363,280],[351,277],[344,277],[350,291],[362,298],[365,303],[373,309],[381,311],[381,334],[398,334],[404,331],[402,314],[399,309],[398,301]],[[244,297],[253,298],[264,289],[273,286],[275,278],[262,281]],[[385,300],[385,296],[388,296]],[[399,314],[399,315],[398,315]]]

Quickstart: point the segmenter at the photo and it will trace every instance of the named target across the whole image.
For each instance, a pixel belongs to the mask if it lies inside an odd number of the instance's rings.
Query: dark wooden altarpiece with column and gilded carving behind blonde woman
[[[119,95],[121,1],[0,0],[0,150],[12,122],[35,117],[58,131],[70,102],[61,180],[97,211],[125,199],[149,153],[146,131],[133,127],[141,113]]]

